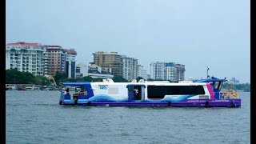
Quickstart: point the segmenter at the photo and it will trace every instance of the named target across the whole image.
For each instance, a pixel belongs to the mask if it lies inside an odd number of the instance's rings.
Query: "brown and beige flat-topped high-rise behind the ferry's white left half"
[[[98,51],[94,53],[94,64],[102,68],[111,68],[114,76],[123,77],[123,63],[118,52]]]

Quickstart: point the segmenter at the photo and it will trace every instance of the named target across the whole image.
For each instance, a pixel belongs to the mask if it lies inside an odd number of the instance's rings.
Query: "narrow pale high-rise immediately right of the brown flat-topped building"
[[[122,63],[123,63],[123,78],[126,78],[128,81],[132,81],[138,77],[137,74],[137,65],[138,59],[130,58],[126,55],[122,55]]]

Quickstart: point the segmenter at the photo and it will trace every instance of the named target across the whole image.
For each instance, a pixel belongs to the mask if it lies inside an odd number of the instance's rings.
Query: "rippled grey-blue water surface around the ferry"
[[[60,106],[58,91],[6,91],[6,143],[250,143],[240,108]]]

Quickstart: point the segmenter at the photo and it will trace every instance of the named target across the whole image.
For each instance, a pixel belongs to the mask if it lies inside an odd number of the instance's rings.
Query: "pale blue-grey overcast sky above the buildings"
[[[249,0],[8,0],[6,43],[74,48],[77,62],[96,51],[150,62],[178,62],[185,77],[250,82]]]

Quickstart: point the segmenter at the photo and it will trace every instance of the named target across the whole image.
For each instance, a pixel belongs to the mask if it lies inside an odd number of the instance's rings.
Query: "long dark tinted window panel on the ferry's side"
[[[148,98],[164,98],[165,95],[205,94],[203,86],[147,86]]]

